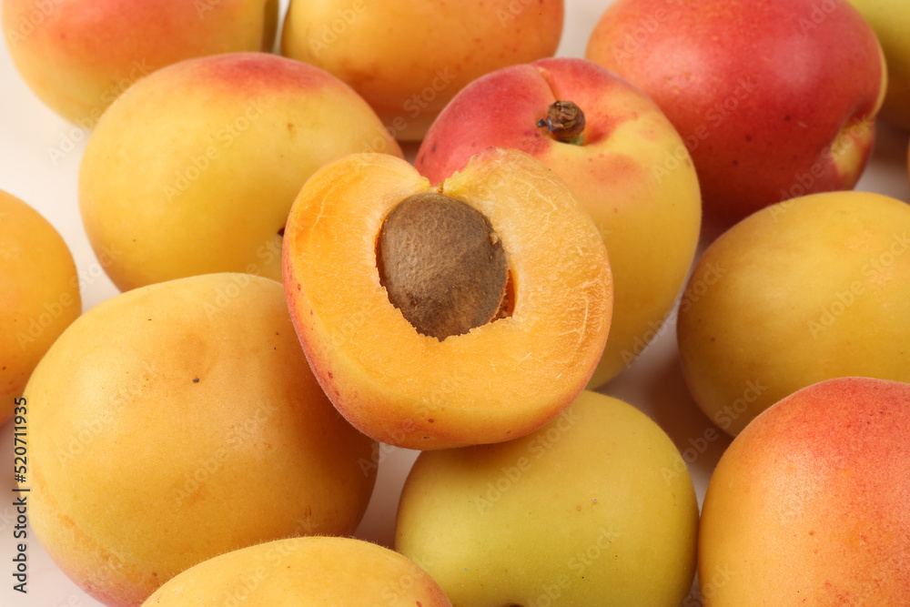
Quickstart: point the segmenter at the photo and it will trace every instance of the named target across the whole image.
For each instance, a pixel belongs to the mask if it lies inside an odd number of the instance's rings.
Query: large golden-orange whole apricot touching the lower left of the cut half
[[[91,309],[25,388],[29,518],[63,572],[138,605],[197,562],[347,535],[375,443],[309,371],[281,285],[210,274]]]

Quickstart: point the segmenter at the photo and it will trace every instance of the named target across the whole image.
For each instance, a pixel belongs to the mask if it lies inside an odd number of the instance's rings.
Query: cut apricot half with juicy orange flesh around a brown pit
[[[472,207],[489,229],[453,237],[460,220],[421,218],[413,232],[424,242],[396,253],[416,268],[405,299],[418,309],[470,312],[496,301],[489,320],[436,336],[389,299],[389,264],[377,253],[386,253],[380,233],[399,204],[428,194]],[[487,254],[472,250],[490,245],[505,253],[504,292],[496,268],[478,269]],[[490,280],[467,289],[476,301],[440,304],[454,280],[442,272],[446,258],[489,271]],[[329,399],[359,430],[400,447],[443,449],[537,430],[584,388],[610,328],[612,275],[597,228],[559,177],[515,150],[488,148],[435,188],[396,157],[331,162],[291,209],[283,265],[291,318]],[[440,297],[421,299],[423,282]]]

